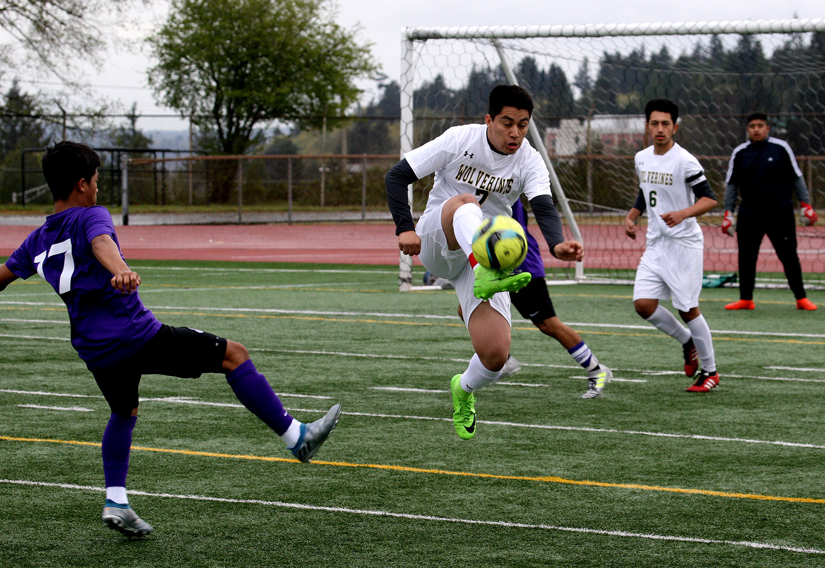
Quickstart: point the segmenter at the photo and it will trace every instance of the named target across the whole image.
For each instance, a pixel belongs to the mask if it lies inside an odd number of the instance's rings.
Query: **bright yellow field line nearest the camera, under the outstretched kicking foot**
[[[48,438],[15,438],[12,436],[0,436],[0,440],[7,440],[12,442],[49,442],[52,444],[74,444],[78,446],[97,446],[100,448],[101,444],[98,442],[82,442],[79,440],[62,440],[62,439],[48,439]],[[294,458],[272,458],[270,456],[251,456],[246,454],[233,453],[215,453],[215,452],[197,452],[188,449],[171,449],[171,448],[144,448],[143,446],[132,446],[133,450],[140,450],[144,452],[162,452],[162,453],[177,453],[186,456],[200,456],[204,458],[231,458],[231,459],[247,459],[259,462],[298,462]],[[662,487],[662,486],[648,486],[639,485],[636,483],[608,483],[606,481],[587,481],[565,479],[557,476],[503,476],[494,473],[472,473],[472,472],[453,472],[442,469],[426,469],[423,467],[406,467],[387,465],[380,463],[351,463],[351,462],[323,462],[314,460],[313,463],[319,466],[333,466],[333,467],[366,467],[369,469],[383,469],[394,472],[413,472],[413,473],[431,473],[442,476],[464,476],[476,477],[480,479],[505,479],[510,481],[538,481],[541,483],[565,483],[568,485],[577,486],[592,486],[592,487],[616,487],[620,489],[639,489],[643,491],[665,491],[669,493],[688,493],[691,495],[710,495],[714,497],[730,497],[733,499],[754,499],[767,501],[786,501],[791,503],[825,503],[825,499],[813,499],[811,497],[782,497],[779,495],[758,495],[753,493],[732,493],[728,491],[709,491],[706,489],[685,489],[681,487]]]

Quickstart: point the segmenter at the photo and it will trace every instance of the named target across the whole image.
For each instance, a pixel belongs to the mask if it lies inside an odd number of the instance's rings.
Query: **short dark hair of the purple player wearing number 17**
[[[91,181],[101,158],[86,144],[64,140],[46,148],[40,160],[55,201],[64,201],[80,180]]]

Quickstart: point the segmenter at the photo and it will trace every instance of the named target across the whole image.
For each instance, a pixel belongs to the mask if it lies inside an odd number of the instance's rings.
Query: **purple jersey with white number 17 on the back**
[[[59,294],[68,308],[72,346],[88,368],[125,359],[162,325],[137,292],[111,287],[111,273],[92,254],[92,239],[99,235],[111,235],[120,250],[106,208],[71,207],[49,215],[6,261],[15,275],[40,274]]]

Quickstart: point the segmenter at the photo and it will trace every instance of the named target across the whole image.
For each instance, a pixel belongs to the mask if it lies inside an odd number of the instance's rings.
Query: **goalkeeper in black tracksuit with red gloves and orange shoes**
[[[736,224],[739,246],[739,300],[729,303],[728,310],[752,310],[753,287],[757,274],[757,256],[762,237],[771,239],[776,256],[785,267],[785,277],[800,310],[817,309],[805,296],[802,267],[796,253],[796,220],[793,192],[808,225],[817,222],[809,204],[808,187],[794,153],[785,140],[772,138],[767,116],[754,113],[747,117],[746,143],[733,150],[728,164],[724,194],[722,232],[733,235],[733,212],[737,192],[742,197]]]

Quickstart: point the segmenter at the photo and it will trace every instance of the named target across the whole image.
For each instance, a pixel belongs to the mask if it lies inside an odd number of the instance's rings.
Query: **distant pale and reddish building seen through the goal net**
[[[644,115],[596,115],[562,119],[558,128],[544,129],[547,152],[553,157],[586,153],[588,127],[592,145],[603,153],[644,147]]]

